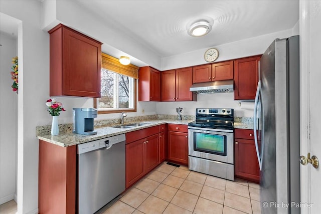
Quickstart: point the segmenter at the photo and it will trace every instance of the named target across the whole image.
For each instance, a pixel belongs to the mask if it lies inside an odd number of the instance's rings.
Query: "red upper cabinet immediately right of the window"
[[[161,101],[161,72],[149,66],[139,68],[138,101]]]

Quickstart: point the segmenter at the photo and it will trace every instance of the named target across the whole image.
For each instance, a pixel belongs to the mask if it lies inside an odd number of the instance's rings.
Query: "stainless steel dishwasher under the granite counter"
[[[94,213],[125,190],[125,134],[77,146],[78,213]]]

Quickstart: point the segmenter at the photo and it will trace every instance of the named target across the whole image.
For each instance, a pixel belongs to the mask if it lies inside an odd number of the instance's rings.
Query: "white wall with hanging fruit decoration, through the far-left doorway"
[[[0,204],[16,195],[17,101],[10,72],[17,40],[0,32]],[[16,195],[17,197],[17,195]]]

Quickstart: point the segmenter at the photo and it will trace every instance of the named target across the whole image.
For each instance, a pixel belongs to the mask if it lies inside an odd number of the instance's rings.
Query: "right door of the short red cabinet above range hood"
[[[212,64],[212,81],[233,80],[233,61]]]

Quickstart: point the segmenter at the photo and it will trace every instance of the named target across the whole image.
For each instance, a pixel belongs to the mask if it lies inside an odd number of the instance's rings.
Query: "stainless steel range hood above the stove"
[[[194,83],[190,91],[195,94],[212,94],[221,92],[233,92],[233,80],[222,80],[208,83]]]

